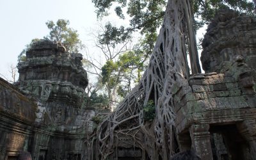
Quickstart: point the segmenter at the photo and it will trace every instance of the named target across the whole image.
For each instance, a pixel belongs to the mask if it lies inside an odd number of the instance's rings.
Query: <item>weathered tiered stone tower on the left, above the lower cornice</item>
[[[86,106],[87,74],[83,56],[70,54],[60,43],[36,42],[18,64],[19,89],[40,102],[38,122],[70,127],[76,124],[79,109]]]

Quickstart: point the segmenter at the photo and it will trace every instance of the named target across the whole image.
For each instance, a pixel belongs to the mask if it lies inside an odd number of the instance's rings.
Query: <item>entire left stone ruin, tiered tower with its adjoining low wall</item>
[[[84,159],[95,111],[86,107],[82,58],[40,40],[18,64],[17,88],[0,79],[0,159],[17,159],[24,151],[32,159]]]

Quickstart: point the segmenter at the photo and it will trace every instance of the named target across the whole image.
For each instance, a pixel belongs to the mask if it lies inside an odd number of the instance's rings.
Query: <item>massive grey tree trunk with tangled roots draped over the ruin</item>
[[[96,149],[95,159],[106,159],[115,153],[120,137],[131,138],[136,147],[147,152],[150,159],[170,159],[175,153],[175,113],[173,84],[189,76],[186,45],[192,52],[195,40],[191,31],[189,0],[170,0],[163,26],[157,38],[148,68],[140,83],[127,95],[118,108],[100,124],[88,148]],[[195,51],[194,51],[195,52]],[[195,58],[194,55],[190,55]],[[193,65],[192,65],[193,67]],[[143,106],[154,100],[156,118],[143,120]],[[89,142],[88,141],[88,142]],[[129,142],[127,142],[129,143]],[[90,154],[89,159],[93,154]]]

